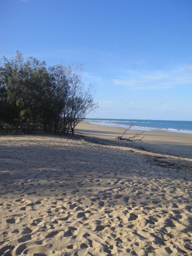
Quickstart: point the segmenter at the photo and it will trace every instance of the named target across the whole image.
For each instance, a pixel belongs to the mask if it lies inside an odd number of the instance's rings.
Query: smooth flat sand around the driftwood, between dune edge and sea
[[[96,121],[95,121],[96,123]],[[125,131],[122,127],[90,124],[88,120],[76,126],[75,131],[82,135],[97,139],[105,139],[110,143],[129,147],[131,149],[144,148],[148,152],[158,154],[184,157],[192,159],[192,134],[167,132],[167,131],[145,131],[143,142],[140,141],[116,141],[118,135]],[[141,130],[142,131],[142,130]],[[133,136],[137,130],[127,131],[127,136]]]

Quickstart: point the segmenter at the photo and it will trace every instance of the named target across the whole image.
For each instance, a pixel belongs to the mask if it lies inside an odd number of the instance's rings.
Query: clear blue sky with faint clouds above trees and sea
[[[0,57],[84,63],[88,118],[192,121],[192,0],[0,0]]]

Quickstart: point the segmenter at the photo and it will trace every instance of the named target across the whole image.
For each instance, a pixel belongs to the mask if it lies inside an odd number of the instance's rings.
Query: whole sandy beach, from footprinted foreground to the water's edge
[[[192,134],[124,130],[0,136],[0,255],[191,255]]]

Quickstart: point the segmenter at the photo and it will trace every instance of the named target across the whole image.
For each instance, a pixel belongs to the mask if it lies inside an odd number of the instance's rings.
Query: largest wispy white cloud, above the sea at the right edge
[[[192,70],[192,66],[189,67]],[[113,79],[113,83],[130,90],[174,89],[179,85],[192,85],[192,74],[186,68],[174,70],[127,71],[127,76]]]

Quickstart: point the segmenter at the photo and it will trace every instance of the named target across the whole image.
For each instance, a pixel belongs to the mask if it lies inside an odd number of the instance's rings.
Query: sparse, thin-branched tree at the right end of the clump
[[[94,103],[89,85],[87,91],[82,82],[82,64],[75,68],[63,64],[49,68],[52,83],[54,133],[74,134],[75,126],[98,107]]]

